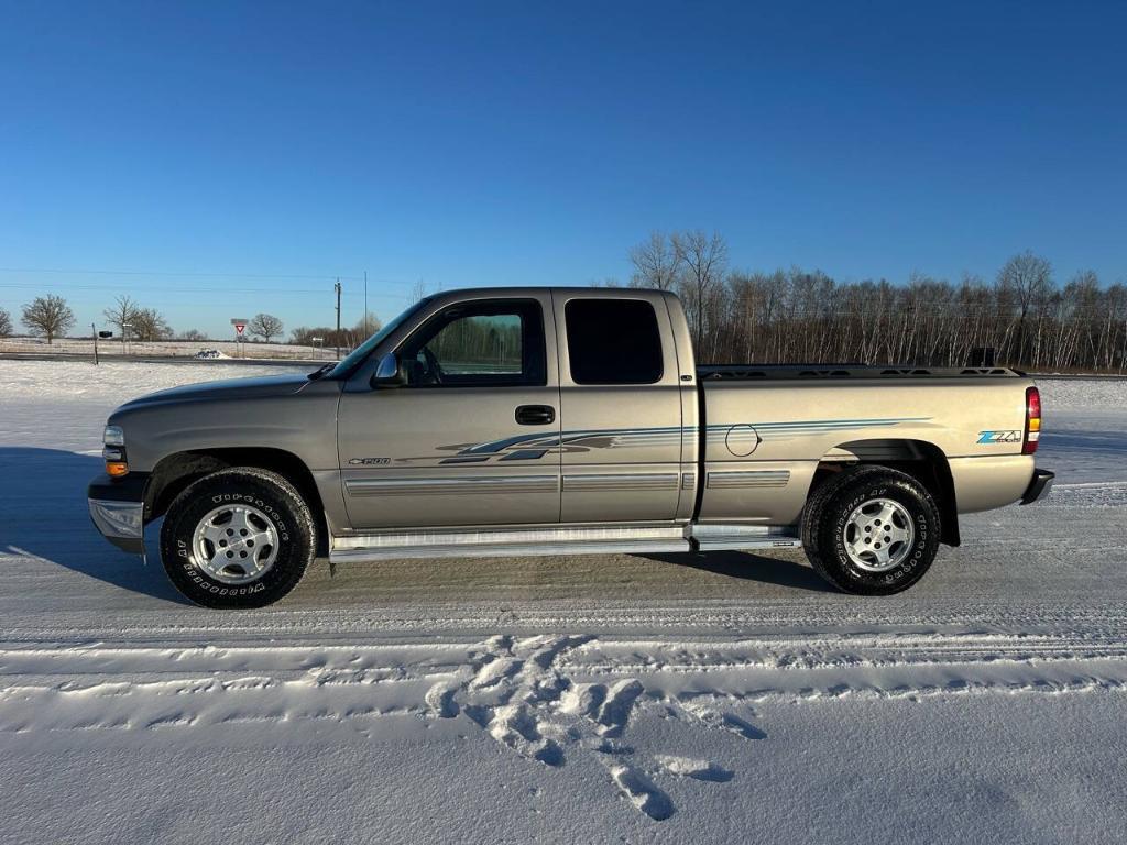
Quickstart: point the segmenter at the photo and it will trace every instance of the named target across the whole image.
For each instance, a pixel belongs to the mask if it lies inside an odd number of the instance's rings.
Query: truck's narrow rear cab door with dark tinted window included
[[[561,522],[673,519],[684,433],[668,309],[653,294],[625,291],[557,292],[553,300]]]

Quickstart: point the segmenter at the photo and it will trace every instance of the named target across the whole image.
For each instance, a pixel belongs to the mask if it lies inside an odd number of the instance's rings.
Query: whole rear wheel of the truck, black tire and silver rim
[[[802,518],[802,545],[818,575],[867,596],[919,581],[935,559],[939,535],[939,508],[928,490],[886,466],[851,468],[823,482]]]

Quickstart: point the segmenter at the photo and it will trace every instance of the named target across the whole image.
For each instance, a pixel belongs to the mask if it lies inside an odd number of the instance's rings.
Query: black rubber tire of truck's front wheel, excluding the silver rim
[[[193,535],[214,508],[246,504],[267,515],[277,534],[274,563],[258,579],[228,585],[196,562]],[[160,531],[160,558],[172,585],[204,607],[250,608],[273,604],[298,586],[317,551],[317,528],[301,493],[276,472],[254,466],[220,470],[176,497]],[[221,573],[223,575],[223,573]]]

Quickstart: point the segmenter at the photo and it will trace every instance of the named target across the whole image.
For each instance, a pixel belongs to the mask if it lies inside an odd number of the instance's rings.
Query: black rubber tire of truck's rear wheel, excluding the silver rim
[[[907,512],[914,535],[906,558],[880,572],[858,566],[846,551],[850,515],[870,499],[891,499]],[[939,508],[914,478],[887,466],[854,466],[819,484],[802,516],[802,546],[815,571],[845,593],[887,596],[923,578],[935,560]]]

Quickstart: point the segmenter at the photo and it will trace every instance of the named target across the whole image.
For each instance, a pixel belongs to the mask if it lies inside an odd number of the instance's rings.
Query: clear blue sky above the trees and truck
[[[338,274],[354,321],[367,270],[387,319],[419,279],[625,282],[650,230],[696,228],[748,269],[992,277],[1031,248],[1120,281],[1125,25],[1113,2],[0,2],[0,306],[55,291],[89,323],[122,291],[225,336],[330,322]]]

